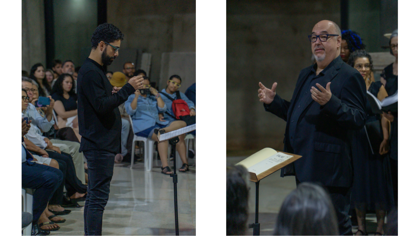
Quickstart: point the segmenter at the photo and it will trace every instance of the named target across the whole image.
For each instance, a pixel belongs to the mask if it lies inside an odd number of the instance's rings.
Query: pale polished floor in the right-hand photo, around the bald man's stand
[[[246,157],[227,157],[226,163],[236,164]],[[255,222],[255,183],[249,182],[249,223]],[[294,176],[282,178],[280,171],[277,171],[267,178],[260,181],[260,194],[258,204],[258,222],[260,223],[260,235],[273,235],[276,226],[277,214],[283,204],[283,200],[293,190],[296,189]],[[386,223],[386,218],[385,218]],[[374,235],[376,230],[375,214],[366,215],[366,227],[369,235]],[[357,225],[353,226],[353,233],[357,231]],[[252,235],[252,228],[248,229],[247,235]]]

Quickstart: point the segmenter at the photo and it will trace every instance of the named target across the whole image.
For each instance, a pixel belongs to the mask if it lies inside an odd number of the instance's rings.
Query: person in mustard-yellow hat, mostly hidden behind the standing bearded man
[[[114,72],[111,76],[110,83],[113,87],[123,87],[127,83],[126,76],[119,71]],[[123,118],[123,115],[127,115],[126,109],[124,108],[124,103],[119,105],[118,109],[120,110],[121,118]],[[127,139],[130,133],[130,121],[127,119],[121,119],[121,123],[121,154],[118,153],[115,155],[116,163],[121,162],[123,157],[128,153]]]

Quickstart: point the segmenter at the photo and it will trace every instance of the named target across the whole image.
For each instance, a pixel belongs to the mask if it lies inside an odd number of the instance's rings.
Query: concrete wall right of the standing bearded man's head
[[[108,23],[124,34],[121,47],[152,54],[152,81],[159,82],[163,52],[195,52],[195,1],[108,0],[107,8]]]

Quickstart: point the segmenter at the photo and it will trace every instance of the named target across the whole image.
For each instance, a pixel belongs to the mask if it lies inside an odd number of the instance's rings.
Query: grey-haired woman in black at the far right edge
[[[394,30],[389,39],[391,55],[395,62],[385,67],[381,73],[381,82],[389,96],[398,92],[398,29]],[[392,186],[394,188],[395,206],[398,206],[398,113],[383,112],[388,121],[391,122],[391,136],[386,140],[389,145],[389,162],[391,163]]]

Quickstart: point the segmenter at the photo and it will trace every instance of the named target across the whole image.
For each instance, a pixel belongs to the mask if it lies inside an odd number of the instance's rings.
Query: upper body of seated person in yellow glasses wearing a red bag
[[[166,110],[166,112],[163,114],[164,115],[164,119],[166,121],[175,121],[176,117],[173,114],[173,110],[172,110],[172,100],[176,99],[176,94],[179,93],[180,97],[182,100],[184,100],[186,102],[186,104],[188,105],[188,108],[190,110],[189,115],[190,116],[195,116],[195,105],[194,102],[192,102],[191,100],[188,99],[188,97],[185,96],[184,93],[179,92],[178,88],[181,87],[181,77],[177,76],[177,75],[173,75],[169,78],[169,80],[166,82],[166,88],[162,89],[162,91],[160,93],[162,93],[162,99],[166,104],[166,107],[168,108]],[[170,99],[170,98],[172,99]],[[186,122],[187,126],[192,125],[195,123],[195,117],[194,119],[189,120],[188,117],[184,117],[184,121]],[[191,132],[192,134],[195,135],[195,130]]]

